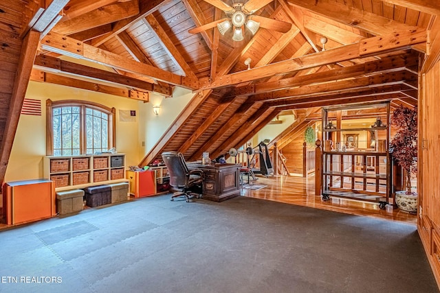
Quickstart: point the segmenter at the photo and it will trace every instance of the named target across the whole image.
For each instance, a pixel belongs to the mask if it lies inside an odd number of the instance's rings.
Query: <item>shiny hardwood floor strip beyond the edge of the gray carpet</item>
[[[269,178],[257,176],[257,178],[257,180],[253,181],[254,185],[267,185],[267,187],[259,190],[241,189],[242,196],[417,225],[417,215],[411,215],[405,211],[393,208],[392,204],[387,204],[385,209],[382,210],[379,208],[379,204],[373,202],[362,202],[334,196],[325,202],[320,196],[315,196],[314,176],[310,176],[308,179],[296,176]]]

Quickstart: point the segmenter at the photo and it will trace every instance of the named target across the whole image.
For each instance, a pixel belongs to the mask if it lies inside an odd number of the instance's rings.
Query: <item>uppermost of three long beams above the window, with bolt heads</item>
[[[86,43],[69,38],[68,36],[51,32],[41,40],[41,47],[59,54],[108,65],[109,67],[115,67],[131,73],[145,75],[155,80],[161,80],[162,82],[181,86],[186,89],[195,90],[199,87],[198,80],[193,78],[176,75],[151,65],[123,58],[118,54],[87,45]]]

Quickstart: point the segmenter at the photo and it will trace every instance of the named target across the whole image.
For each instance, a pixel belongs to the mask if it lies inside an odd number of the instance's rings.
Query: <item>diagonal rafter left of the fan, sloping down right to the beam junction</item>
[[[142,19],[142,21],[148,27],[150,32],[157,38],[159,44],[166,51],[171,60],[173,60],[173,62],[180,67],[182,73],[197,80],[197,77],[189,67],[185,58],[181,56],[179,50],[175,47],[173,41],[170,39],[168,34],[166,34],[165,30],[160,26],[155,16],[153,16],[153,14],[148,14],[145,19]]]

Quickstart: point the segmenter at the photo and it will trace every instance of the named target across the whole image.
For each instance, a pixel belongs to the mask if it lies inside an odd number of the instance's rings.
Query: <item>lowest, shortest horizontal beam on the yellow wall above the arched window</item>
[[[144,102],[148,102],[149,100],[148,92],[121,89],[104,84],[76,80],[74,78],[68,78],[67,76],[56,75],[54,73],[48,73],[37,69],[32,69],[30,80],[34,82],[47,82],[50,84],[69,86],[72,88],[84,89],[86,91],[94,91],[97,93],[106,93],[108,95],[117,95],[118,97],[126,97],[129,99],[138,99]]]

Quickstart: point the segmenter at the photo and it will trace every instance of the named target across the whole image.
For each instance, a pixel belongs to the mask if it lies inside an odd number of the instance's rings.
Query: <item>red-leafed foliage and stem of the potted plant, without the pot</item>
[[[411,174],[417,171],[417,106],[399,106],[391,116],[391,124],[397,126],[391,140],[390,152],[406,171],[406,194],[411,192]]]

